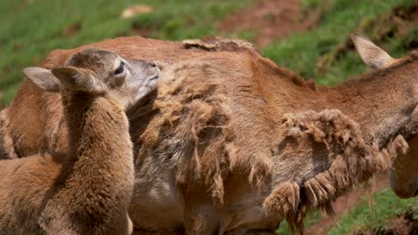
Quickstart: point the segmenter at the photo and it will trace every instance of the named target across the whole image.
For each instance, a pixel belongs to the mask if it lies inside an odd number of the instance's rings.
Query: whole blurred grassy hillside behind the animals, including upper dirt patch
[[[138,14],[121,17],[138,4]],[[320,85],[367,70],[354,51],[351,32],[363,32],[394,57],[418,47],[416,0],[2,0],[0,12],[0,106],[13,100],[24,78],[21,69],[46,53],[116,36],[245,38],[264,56]],[[377,205],[372,209],[371,199]],[[339,226],[332,223],[316,234],[389,234],[397,215],[408,215],[418,228],[417,204],[417,199],[400,200],[381,190],[339,215]],[[311,214],[307,226],[322,220],[320,213]],[[287,234],[286,224],[278,232]]]

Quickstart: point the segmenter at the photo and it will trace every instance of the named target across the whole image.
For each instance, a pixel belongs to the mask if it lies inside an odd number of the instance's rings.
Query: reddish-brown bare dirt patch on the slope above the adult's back
[[[223,32],[240,29],[254,31],[255,45],[263,47],[291,32],[316,27],[320,17],[319,8],[309,11],[306,16],[299,0],[262,0],[231,14],[221,22],[219,29]]]

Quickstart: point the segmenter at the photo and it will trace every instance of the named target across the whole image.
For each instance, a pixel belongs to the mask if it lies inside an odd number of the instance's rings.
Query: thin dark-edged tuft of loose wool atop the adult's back
[[[182,42],[186,49],[198,48],[208,52],[239,52],[243,50],[255,51],[254,45],[240,40],[221,36],[206,36],[202,39],[189,39]]]

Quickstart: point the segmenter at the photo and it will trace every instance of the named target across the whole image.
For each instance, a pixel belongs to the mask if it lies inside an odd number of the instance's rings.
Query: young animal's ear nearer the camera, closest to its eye
[[[60,66],[51,70],[63,86],[72,91],[83,91],[87,93],[105,93],[106,85],[100,81],[96,74],[90,69],[82,69],[73,66]]]

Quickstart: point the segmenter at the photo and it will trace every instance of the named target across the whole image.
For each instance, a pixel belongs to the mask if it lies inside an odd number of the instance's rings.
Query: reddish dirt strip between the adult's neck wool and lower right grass
[[[332,203],[332,207],[334,207],[337,219],[339,218],[339,215],[346,213],[350,207],[354,207],[360,198],[364,197],[366,194],[372,193],[373,191],[383,190],[384,188],[388,187],[388,185],[389,175],[380,174],[376,176],[375,180],[370,185],[364,185],[357,190],[352,190],[346,195],[339,197],[339,199]],[[370,203],[372,207],[373,202],[371,201]],[[334,218],[330,217],[329,215],[322,215],[322,220],[318,223],[315,223],[314,226],[306,228],[305,234],[325,234],[327,229],[329,229],[330,226],[334,224],[336,224]]]

